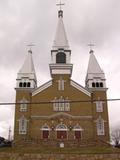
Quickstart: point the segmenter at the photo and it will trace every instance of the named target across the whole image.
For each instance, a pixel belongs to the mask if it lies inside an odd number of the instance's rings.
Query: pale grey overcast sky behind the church
[[[120,0],[63,0],[64,24],[72,50],[72,79],[85,86],[89,43],[104,70],[108,98],[120,98]],[[0,0],[0,102],[15,102],[17,72],[33,43],[38,86],[50,79],[50,50],[59,0]],[[119,126],[120,101],[109,102],[110,127]],[[14,106],[0,105],[0,136],[13,130]]]

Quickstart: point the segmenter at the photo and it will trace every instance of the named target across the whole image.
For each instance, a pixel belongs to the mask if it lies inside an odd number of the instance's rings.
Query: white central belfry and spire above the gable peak
[[[56,35],[51,50],[51,64],[50,73],[53,75],[65,74],[71,77],[72,67],[71,64],[71,50],[68,44],[67,35],[63,23],[63,11],[58,11],[58,25]]]

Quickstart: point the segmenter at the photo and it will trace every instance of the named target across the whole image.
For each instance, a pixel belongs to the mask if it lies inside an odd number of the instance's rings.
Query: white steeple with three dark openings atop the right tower
[[[97,89],[106,88],[105,74],[97,62],[93,50],[90,50],[90,58],[86,75],[86,87]]]

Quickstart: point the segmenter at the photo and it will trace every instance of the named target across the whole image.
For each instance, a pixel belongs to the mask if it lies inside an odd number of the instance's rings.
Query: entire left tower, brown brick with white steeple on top
[[[32,51],[17,74],[14,139],[30,136],[30,102],[31,92],[37,88],[37,78],[33,64]]]

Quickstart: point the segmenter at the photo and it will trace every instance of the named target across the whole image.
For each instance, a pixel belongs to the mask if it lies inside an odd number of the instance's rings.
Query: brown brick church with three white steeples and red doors
[[[105,74],[91,49],[85,87],[81,86],[71,79],[71,54],[60,9],[50,53],[51,79],[37,86],[31,49],[17,74],[15,145],[82,147],[109,143]]]

